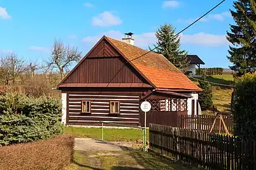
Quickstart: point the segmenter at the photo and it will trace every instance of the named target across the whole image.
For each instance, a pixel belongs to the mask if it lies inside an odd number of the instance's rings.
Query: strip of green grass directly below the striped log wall
[[[107,141],[133,142],[137,139],[142,139],[142,130],[135,128],[104,128],[103,132],[104,140]],[[75,137],[102,138],[102,128],[65,127],[65,133],[73,134]],[[147,130],[147,139],[149,139],[149,130]]]

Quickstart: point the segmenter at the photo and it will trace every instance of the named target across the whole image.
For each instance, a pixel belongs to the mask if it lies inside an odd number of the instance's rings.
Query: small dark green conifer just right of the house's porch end
[[[198,94],[198,102],[202,110],[207,110],[212,106],[212,87],[209,82],[206,82],[206,77],[202,77],[203,81],[199,81],[199,87],[203,89],[202,93]]]

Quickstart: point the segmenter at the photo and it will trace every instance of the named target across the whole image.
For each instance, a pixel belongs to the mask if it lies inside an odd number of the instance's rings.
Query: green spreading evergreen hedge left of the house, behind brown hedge
[[[60,132],[59,99],[0,96],[0,145],[47,139]]]

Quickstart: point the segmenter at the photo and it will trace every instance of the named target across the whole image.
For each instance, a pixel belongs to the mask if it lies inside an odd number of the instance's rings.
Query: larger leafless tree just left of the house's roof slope
[[[68,67],[72,62],[79,62],[82,52],[78,51],[77,47],[65,46],[61,40],[55,40],[52,49],[52,55],[47,61],[47,68],[52,70],[58,70],[61,74],[61,79]]]

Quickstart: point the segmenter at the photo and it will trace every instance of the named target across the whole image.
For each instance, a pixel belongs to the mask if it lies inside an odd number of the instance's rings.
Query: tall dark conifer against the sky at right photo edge
[[[233,63],[230,68],[241,76],[256,71],[256,2],[255,0],[238,0],[234,2],[236,11],[231,11],[236,25],[227,32],[229,45],[228,59]]]

